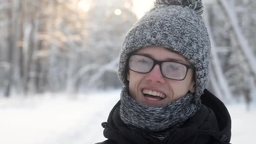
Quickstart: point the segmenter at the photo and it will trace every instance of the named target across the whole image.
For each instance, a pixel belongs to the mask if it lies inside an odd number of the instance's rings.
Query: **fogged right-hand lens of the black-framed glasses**
[[[162,73],[169,79],[182,80],[187,73],[187,67],[177,62],[163,62]]]

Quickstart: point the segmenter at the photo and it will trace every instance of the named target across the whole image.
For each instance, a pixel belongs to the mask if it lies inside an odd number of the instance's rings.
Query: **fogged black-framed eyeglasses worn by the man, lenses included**
[[[184,80],[188,69],[195,69],[194,66],[173,61],[158,61],[148,56],[131,53],[128,58],[128,67],[134,72],[148,73],[155,65],[160,66],[161,74],[167,79]]]

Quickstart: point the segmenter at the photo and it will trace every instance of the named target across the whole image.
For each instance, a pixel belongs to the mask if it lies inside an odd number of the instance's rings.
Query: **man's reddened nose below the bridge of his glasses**
[[[146,76],[146,80],[150,80],[153,83],[164,83],[165,78],[161,73],[160,66],[155,65],[154,68]]]

